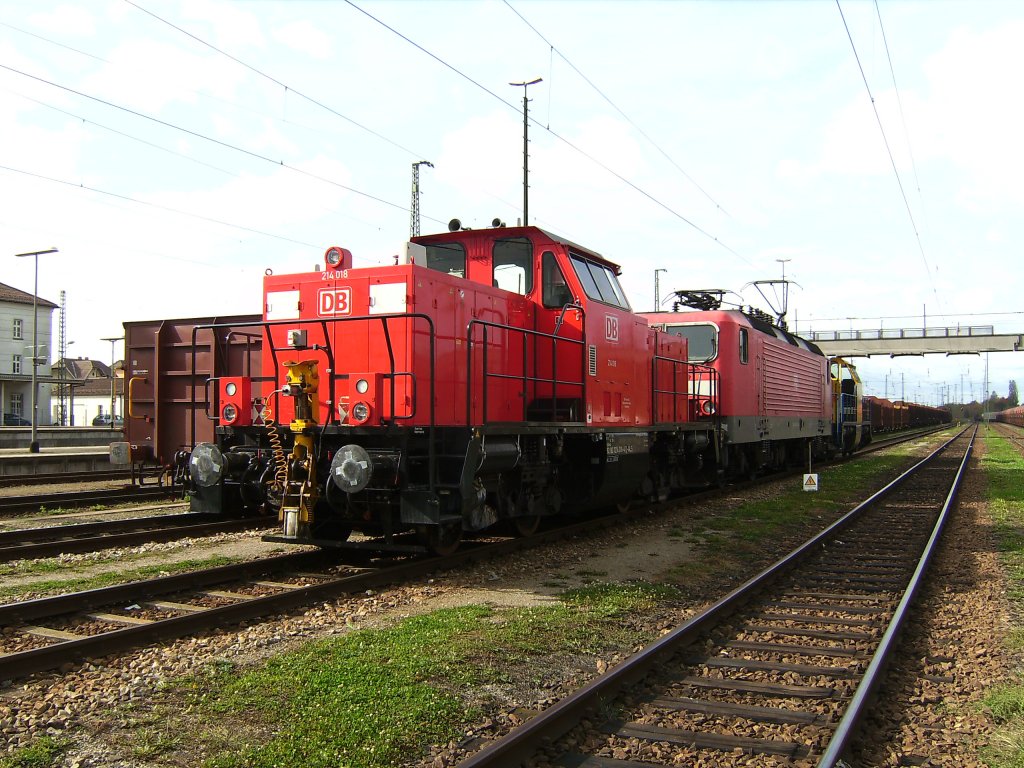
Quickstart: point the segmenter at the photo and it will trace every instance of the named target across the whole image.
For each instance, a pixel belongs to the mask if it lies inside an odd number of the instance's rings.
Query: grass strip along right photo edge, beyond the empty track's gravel
[[[981,468],[987,481],[988,509],[992,516],[999,558],[1008,578],[1008,597],[1013,613],[1020,615],[1024,603],[1024,457],[985,427],[985,456]],[[1015,628],[1010,642],[1024,647],[1024,630]],[[998,723],[982,757],[991,768],[1024,768],[1024,680],[989,690],[983,705]]]

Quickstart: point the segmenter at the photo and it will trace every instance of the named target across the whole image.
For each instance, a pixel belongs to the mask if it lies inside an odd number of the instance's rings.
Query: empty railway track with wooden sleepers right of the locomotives
[[[955,501],[966,432],[462,767],[844,765]]]

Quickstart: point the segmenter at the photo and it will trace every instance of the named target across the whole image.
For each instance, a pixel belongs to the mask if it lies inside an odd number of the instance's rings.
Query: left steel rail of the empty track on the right
[[[691,644],[714,627],[719,618],[733,612],[765,585],[792,569],[806,555],[852,524],[864,510],[891,494],[922,467],[930,464],[966,431],[967,427],[942,443],[928,457],[902,472],[896,479],[871,494],[870,497],[817,536],[732,590],[707,610],[691,616],[676,629],[617,665],[606,675],[591,680],[537,717],[516,727],[506,736],[469,756],[459,763],[460,768],[482,768],[483,766],[517,768],[522,761],[537,751],[538,745],[551,743],[563,736],[588,714],[598,710],[602,702],[613,697],[621,689],[642,680],[655,665],[663,663],[675,655],[681,648]]]

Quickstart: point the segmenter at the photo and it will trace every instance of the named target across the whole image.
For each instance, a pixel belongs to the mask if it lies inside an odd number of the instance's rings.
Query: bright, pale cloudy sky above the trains
[[[123,323],[258,313],[330,246],[390,263],[418,161],[423,233],[512,225],[525,90],[529,223],[638,311],[655,275],[663,309],[770,310],[751,284],[784,270],[798,333],[1021,333],[1022,39],[1016,0],[4,0],[0,282],[58,248],[39,295],[108,361]],[[1024,384],[1019,353],[855,362],[921,402]]]

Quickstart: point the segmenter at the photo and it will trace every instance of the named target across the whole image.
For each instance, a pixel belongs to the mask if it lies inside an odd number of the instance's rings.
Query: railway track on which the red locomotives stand
[[[699,503],[720,493],[709,490],[664,504]],[[586,535],[597,527],[645,516],[660,506],[643,505],[632,512],[562,525],[527,539],[468,542],[447,557],[426,557],[423,547],[410,542],[391,547],[386,553],[391,559],[375,559],[384,553],[380,543],[350,543],[332,553],[285,555],[0,605],[0,681]],[[339,553],[351,562],[339,566]],[[323,572],[309,571],[315,563],[325,562],[328,566]],[[345,568],[345,573],[338,575],[333,567]],[[267,574],[276,575],[267,579]],[[227,588],[211,589],[218,585]],[[102,610],[97,611],[99,608]]]

